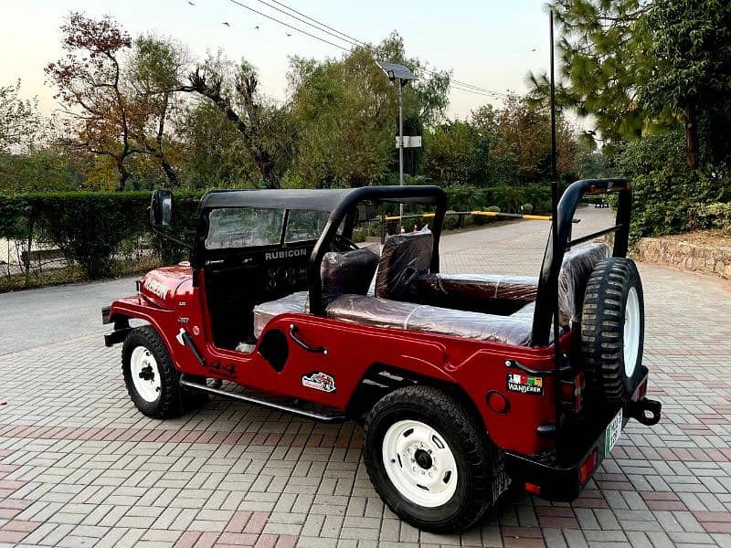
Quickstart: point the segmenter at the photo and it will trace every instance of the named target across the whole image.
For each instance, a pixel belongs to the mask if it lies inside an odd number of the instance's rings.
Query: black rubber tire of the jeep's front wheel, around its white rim
[[[143,346],[152,353],[160,374],[160,392],[153,402],[145,400],[132,382],[132,351],[138,346]],[[180,385],[180,373],[175,369],[162,337],[151,325],[133,329],[124,339],[122,375],[132,403],[146,416],[172,418],[207,402],[206,394],[190,392]]]

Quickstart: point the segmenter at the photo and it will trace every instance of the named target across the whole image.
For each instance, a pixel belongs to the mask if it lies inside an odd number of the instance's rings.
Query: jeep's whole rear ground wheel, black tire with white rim
[[[365,418],[374,487],[394,513],[427,531],[462,531],[493,505],[497,453],[482,421],[430,386],[398,389]]]

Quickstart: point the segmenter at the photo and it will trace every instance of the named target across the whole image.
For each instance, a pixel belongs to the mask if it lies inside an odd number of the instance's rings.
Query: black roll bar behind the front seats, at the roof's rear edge
[[[307,285],[310,288],[310,312],[324,315],[323,307],[323,279],[320,273],[320,264],[324,254],[329,250],[337,229],[341,222],[361,202],[403,202],[418,205],[433,205],[436,208],[434,224],[431,228],[434,237],[434,248],[431,254],[431,272],[440,271],[440,234],[447,212],[447,197],[439,186],[408,185],[408,186],[364,186],[344,196],[344,199],[334,207],[327,219],[323,234],[314,245],[310,255],[310,264],[307,269]]]

